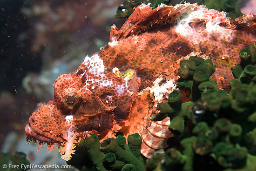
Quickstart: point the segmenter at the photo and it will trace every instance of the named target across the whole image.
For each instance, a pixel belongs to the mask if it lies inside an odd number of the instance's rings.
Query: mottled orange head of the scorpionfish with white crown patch
[[[96,54],[86,57],[74,73],[60,75],[54,82],[54,101],[40,104],[29,118],[27,138],[65,143],[71,134],[77,140],[96,133],[102,139],[127,125],[138,90],[135,70],[105,68]]]

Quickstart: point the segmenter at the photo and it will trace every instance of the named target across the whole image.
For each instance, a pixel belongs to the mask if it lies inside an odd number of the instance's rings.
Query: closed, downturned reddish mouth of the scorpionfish
[[[62,143],[65,141],[65,139],[61,138],[60,136],[54,136],[49,132],[42,132],[36,128],[33,128],[32,125],[30,125],[30,123],[27,124],[27,126],[25,127],[25,132],[26,132],[28,141],[50,143],[50,144]]]

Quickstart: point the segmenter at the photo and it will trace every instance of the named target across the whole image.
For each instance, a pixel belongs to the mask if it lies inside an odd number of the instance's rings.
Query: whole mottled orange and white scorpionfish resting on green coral
[[[54,82],[54,101],[40,104],[25,130],[28,141],[58,143],[61,158],[69,160],[75,143],[97,134],[100,141],[122,132],[139,133],[141,154],[167,147],[174,136],[170,118],[153,122],[158,103],[167,100],[179,79],[180,60],[197,55],[216,66],[211,76],[229,89],[231,66],[239,51],[256,41],[256,15],[229,20],[226,13],[197,4],[135,8],[120,30],[113,25],[110,41],[99,53],[86,56],[72,74]],[[184,93],[183,93],[184,94]],[[60,146],[61,145],[61,146]]]

